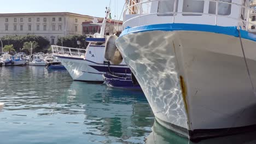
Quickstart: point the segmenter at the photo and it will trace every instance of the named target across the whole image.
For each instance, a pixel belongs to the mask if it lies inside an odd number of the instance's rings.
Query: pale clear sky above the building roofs
[[[110,1],[112,19],[119,20],[125,0],[0,0],[0,14],[70,12],[104,17]]]

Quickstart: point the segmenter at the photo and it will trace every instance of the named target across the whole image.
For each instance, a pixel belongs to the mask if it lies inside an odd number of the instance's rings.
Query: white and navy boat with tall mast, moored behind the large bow
[[[104,50],[106,36],[105,28],[107,17],[110,10],[106,10],[106,16],[101,25],[100,33],[95,33],[93,38],[86,38],[89,41],[86,49],[76,49],[71,47],[63,47],[52,45],[53,56],[62,63],[62,65],[68,70],[73,80],[85,81],[85,82],[97,82],[102,83],[102,74],[106,71],[112,71],[120,74],[130,74],[131,71],[121,59],[117,63],[111,61],[104,62]]]

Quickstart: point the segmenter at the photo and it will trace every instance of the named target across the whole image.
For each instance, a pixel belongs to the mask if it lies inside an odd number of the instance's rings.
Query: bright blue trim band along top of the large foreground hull
[[[213,25],[200,25],[200,24],[191,24],[191,23],[165,23],[158,25],[148,25],[148,26],[139,26],[133,28],[125,29],[119,36],[137,33],[137,32],[147,32],[147,31],[200,31],[200,32],[212,32],[219,34],[232,35],[234,37],[239,37],[237,27],[222,27],[222,26],[213,26]],[[240,30],[241,37],[243,39],[256,41],[256,35],[249,33],[244,30]]]

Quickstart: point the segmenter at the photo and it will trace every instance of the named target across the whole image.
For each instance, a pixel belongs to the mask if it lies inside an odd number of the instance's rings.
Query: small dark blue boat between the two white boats
[[[141,90],[139,85],[133,84],[131,75],[124,74],[103,74],[108,87]]]

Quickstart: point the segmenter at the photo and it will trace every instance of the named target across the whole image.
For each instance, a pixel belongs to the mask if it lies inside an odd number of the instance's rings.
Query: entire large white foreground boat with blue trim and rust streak
[[[115,42],[156,121],[190,140],[255,129],[249,1],[126,2]]]

